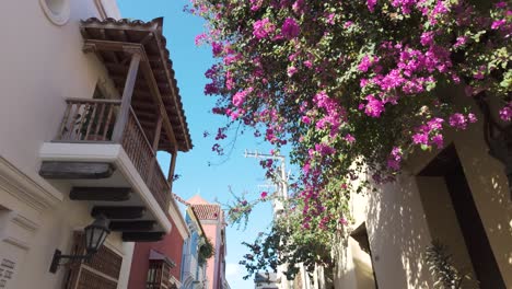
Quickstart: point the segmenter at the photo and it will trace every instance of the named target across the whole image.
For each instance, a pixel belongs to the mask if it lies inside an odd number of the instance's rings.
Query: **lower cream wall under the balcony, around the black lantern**
[[[4,194],[7,193],[0,190],[0,200],[4,199]],[[13,215],[16,213],[15,209],[12,211]],[[50,274],[48,269],[51,257],[56,248],[62,254],[70,253],[73,230],[81,230],[92,222],[89,212],[86,206],[66,199],[53,210],[39,215],[37,228],[33,231],[11,222],[8,234],[16,235],[20,241],[24,241],[26,247],[0,241],[0,257],[9,257],[16,262],[14,279],[7,288],[59,288],[66,269],[61,267],[57,274]],[[112,233],[106,245],[124,256],[123,267],[129,271],[132,243],[123,243],[119,233]],[[118,288],[126,288],[127,274],[121,271],[120,278]]]

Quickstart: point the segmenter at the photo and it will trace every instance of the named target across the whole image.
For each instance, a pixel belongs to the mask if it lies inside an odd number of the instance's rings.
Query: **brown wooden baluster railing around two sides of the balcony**
[[[130,107],[120,140],[114,140],[120,101],[68,99],[66,102],[66,113],[56,141],[120,143],[151,194],[166,212],[171,201],[171,188],[133,109]]]

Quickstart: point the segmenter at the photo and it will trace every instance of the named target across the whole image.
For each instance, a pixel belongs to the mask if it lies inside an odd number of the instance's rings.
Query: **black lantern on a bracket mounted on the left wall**
[[[93,223],[85,227],[84,241],[85,241],[85,255],[62,255],[60,250],[56,250],[54,258],[51,259],[50,273],[56,273],[60,264],[60,259],[67,258],[70,262],[75,259],[86,259],[92,257],[103,245],[105,239],[110,233],[108,229],[110,221],[105,216],[100,215],[96,217]]]

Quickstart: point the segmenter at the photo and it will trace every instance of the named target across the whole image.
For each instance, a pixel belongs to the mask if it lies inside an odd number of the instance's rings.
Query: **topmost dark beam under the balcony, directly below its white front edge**
[[[39,175],[51,180],[106,178],[114,173],[110,163],[44,161]]]

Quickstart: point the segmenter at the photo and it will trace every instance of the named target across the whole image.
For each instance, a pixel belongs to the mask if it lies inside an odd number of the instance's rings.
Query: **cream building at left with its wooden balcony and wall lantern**
[[[181,234],[191,141],[163,20],[121,20],[113,0],[1,5],[0,288],[127,288],[133,242]]]

